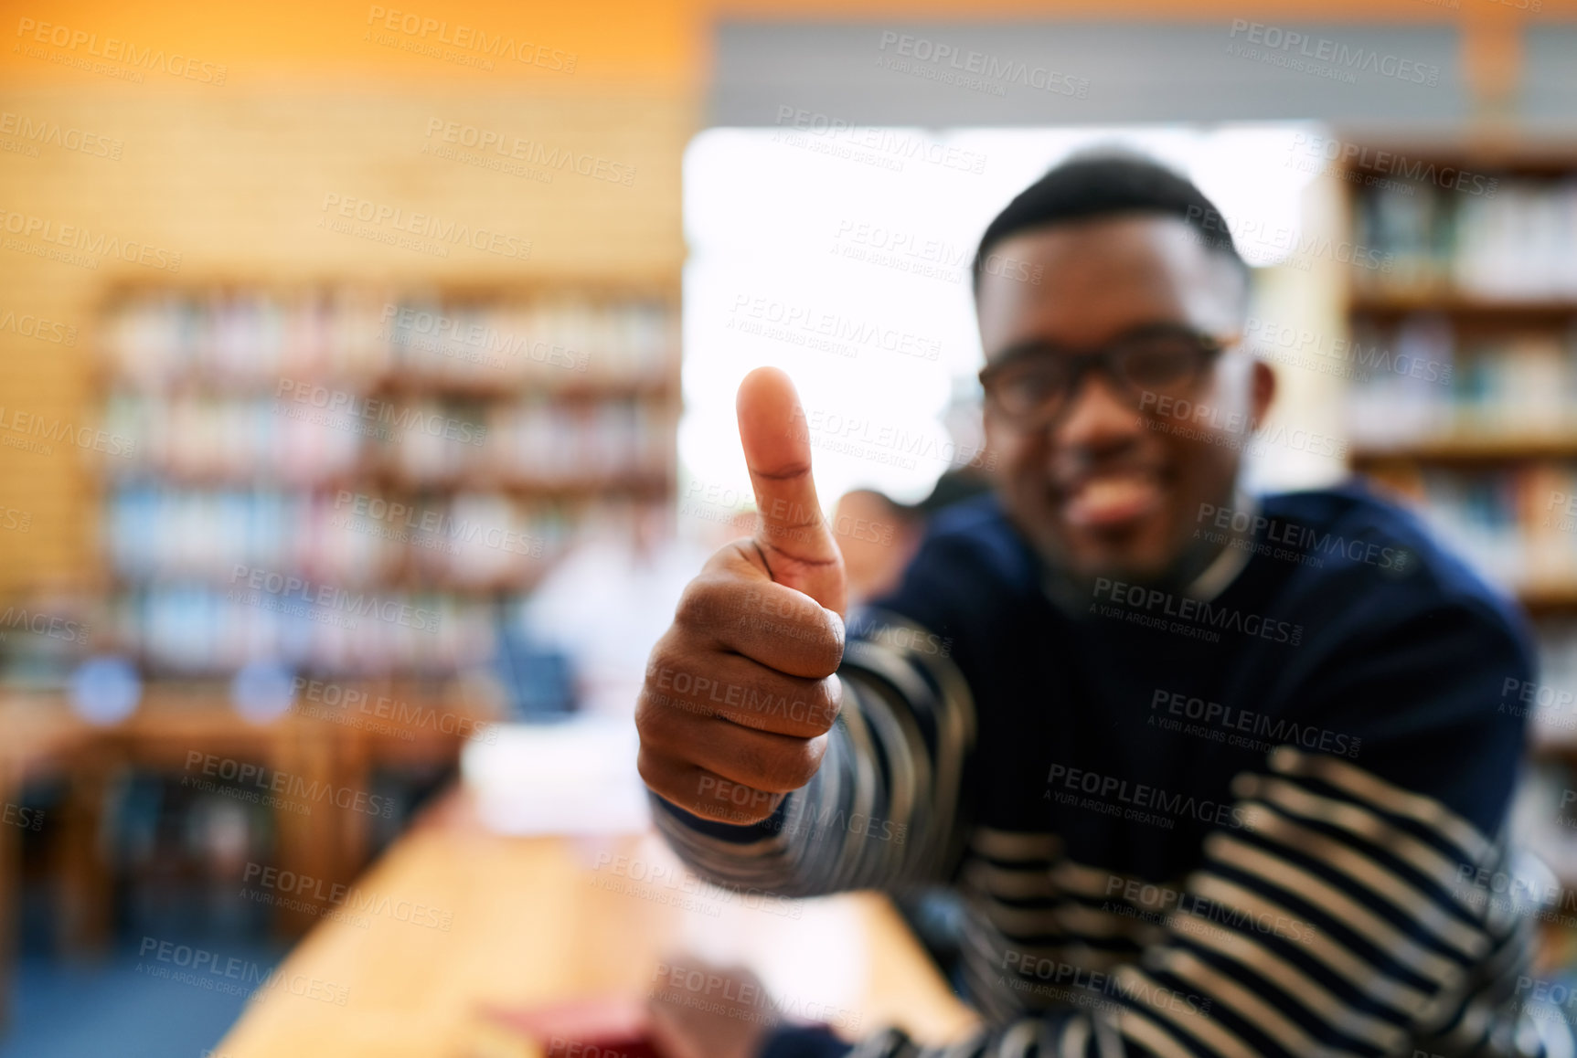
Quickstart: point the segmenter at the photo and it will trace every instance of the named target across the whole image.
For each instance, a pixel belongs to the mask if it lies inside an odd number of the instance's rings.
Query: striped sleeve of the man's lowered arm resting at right
[[[1463,883],[1506,869],[1500,842],[1433,798],[1288,746],[1233,785],[1241,825],[1211,833],[1158,938],[1085,978],[1077,1012],[945,1052],[889,1033],[853,1053],[1571,1053],[1560,1014],[1523,1001],[1530,919]]]

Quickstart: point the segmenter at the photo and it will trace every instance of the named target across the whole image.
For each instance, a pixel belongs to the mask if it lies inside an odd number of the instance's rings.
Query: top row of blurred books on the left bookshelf
[[[364,290],[298,295],[216,290],[126,298],[104,320],[121,385],[200,382],[273,389],[281,378],[374,385],[576,386],[661,380],[677,331],[658,298],[544,292],[535,298],[401,298]]]

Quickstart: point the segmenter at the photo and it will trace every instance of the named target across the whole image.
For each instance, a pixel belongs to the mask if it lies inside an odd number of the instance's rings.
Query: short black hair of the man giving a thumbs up
[[[1192,180],[1143,155],[1101,150],[1069,158],[997,214],[975,254],[975,290],[992,246],[1005,238],[1124,213],[1175,216],[1199,233],[1202,246],[1235,262],[1244,276],[1249,273],[1221,211]]]

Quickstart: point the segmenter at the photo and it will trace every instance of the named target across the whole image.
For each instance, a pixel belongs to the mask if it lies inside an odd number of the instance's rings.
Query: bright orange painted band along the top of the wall
[[[1457,0],[1451,9],[1426,0],[577,0],[574,3],[508,3],[506,0],[390,0],[383,5],[334,0],[279,0],[270,5],[227,5],[213,0],[6,0],[6,39],[17,41],[22,19],[65,25],[99,38],[117,36],[139,46],[166,47],[224,63],[237,85],[301,79],[356,84],[367,79],[449,80],[473,84],[478,71],[418,60],[366,41],[380,25],[374,11],[399,11],[449,27],[467,25],[527,39],[577,55],[572,76],[522,63],[487,74],[495,85],[544,91],[585,91],[612,85],[686,87],[705,84],[706,49],[718,19],[1162,19],[1230,17],[1380,20],[1380,22],[1515,22],[1523,17],[1577,16],[1577,0],[1539,0],[1527,14],[1525,0]],[[1531,6],[1533,0],[1527,0]],[[386,16],[383,16],[386,17]],[[429,38],[435,32],[429,33]],[[0,49],[0,82],[69,82],[77,71]]]

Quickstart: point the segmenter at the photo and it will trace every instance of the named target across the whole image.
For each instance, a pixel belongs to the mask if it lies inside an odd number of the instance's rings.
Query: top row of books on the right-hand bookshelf
[[[1577,296],[1577,180],[1571,177],[1490,177],[1460,189],[1381,181],[1355,205],[1355,241],[1389,262],[1361,276],[1370,293]]]

